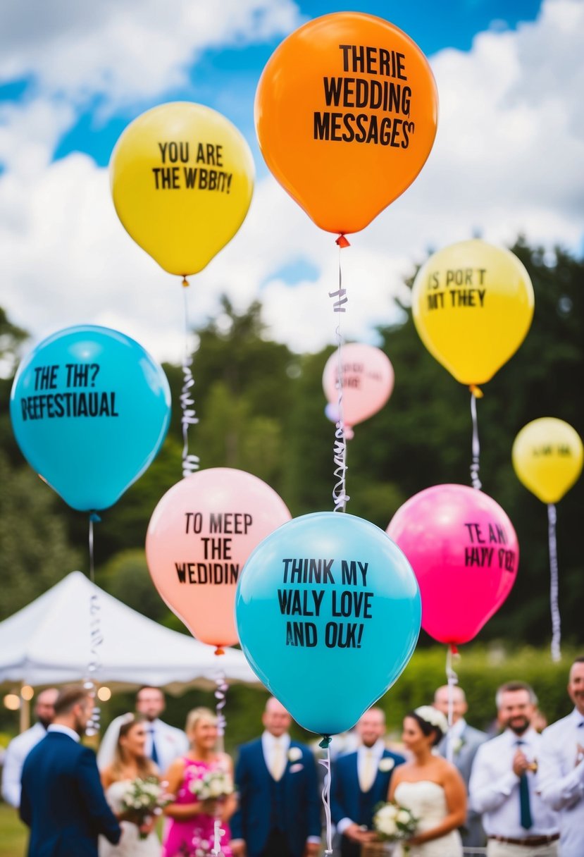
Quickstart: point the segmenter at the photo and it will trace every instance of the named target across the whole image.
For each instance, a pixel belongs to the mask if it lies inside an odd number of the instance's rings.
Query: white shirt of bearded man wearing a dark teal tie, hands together
[[[517,746],[521,740],[522,746]],[[519,776],[513,770],[513,757],[518,749],[530,761],[538,761],[541,752],[541,735],[529,728],[522,735],[506,729],[497,738],[481,744],[474,757],[468,792],[470,806],[482,813],[487,836],[505,836],[525,839],[527,836],[552,836],[558,831],[557,813],[541,800],[539,770],[527,771],[529,803],[533,825],[521,827]]]

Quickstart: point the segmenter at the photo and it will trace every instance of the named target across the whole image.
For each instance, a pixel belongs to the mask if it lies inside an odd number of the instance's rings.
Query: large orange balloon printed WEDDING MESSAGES
[[[389,21],[309,21],[268,60],[255,96],[265,163],[314,223],[358,232],[414,181],[432,149],[438,93],[418,45]]]

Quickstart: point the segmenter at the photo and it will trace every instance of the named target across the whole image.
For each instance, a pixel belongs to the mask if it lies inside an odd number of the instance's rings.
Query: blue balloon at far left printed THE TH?
[[[90,512],[112,506],[152,463],[170,423],[170,388],[134,339],[68,327],[21,363],[10,416],[31,467]]]

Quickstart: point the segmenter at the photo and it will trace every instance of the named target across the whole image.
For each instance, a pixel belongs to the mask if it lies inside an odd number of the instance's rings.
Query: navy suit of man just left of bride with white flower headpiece
[[[331,817],[335,824],[342,818],[350,818],[355,824],[372,827],[373,813],[378,803],[387,801],[390,790],[391,774],[398,764],[405,762],[403,756],[384,750],[381,757],[392,759],[394,762],[390,770],[377,770],[372,787],[367,792],[362,792],[359,785],[357,772],[357,752],[349,752],[345,756],[339,756],[331,773]],[[382,768],[384,765],[382,764]],[[347,836],[342,837],[342,854],[359,854],[360,846],[349,841]]]

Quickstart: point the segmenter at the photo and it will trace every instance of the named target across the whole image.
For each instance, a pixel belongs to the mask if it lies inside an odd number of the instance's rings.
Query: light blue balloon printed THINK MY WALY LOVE
[[[420,634],[408,560],[369,521],[316,512],[274,530],[235,595],[247,661],[312,732],[351,728],[402,673]]]

